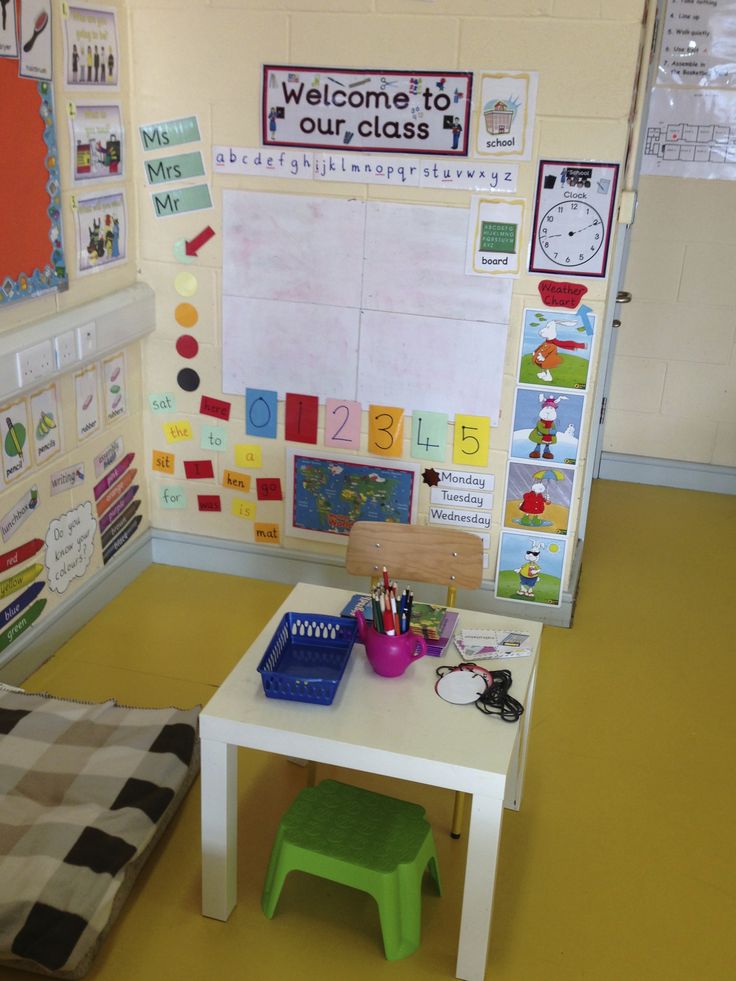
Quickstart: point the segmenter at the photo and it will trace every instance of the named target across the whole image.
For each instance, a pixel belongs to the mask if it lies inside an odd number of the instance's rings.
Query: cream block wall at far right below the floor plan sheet
[[[604,449],[736,467],[736,182],[639,190]]]

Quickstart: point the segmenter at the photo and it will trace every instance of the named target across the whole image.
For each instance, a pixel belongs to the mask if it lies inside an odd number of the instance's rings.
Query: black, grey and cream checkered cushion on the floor
[[[86,972],[194,778],[198,714],[0,690],[0,962]]]

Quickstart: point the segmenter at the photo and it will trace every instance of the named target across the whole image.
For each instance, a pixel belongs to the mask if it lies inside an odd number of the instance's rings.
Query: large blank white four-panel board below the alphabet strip
[[[511,280],[465,275],[468,211],[223,192],[223,391],[498,422]]]

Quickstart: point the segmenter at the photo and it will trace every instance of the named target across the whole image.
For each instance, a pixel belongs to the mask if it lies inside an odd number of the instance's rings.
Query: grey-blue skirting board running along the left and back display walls
[[[581,557],[582,542],[578,542],[571,589],[563,593],[560,606],[534,606],[497,599],[493,583],[484,583],[477,590],[459,589],[458,605],[522,620],[538,620],[553,627],[569,627],[572,625],[580,580]],[[151,563],[269,582],[310,582],[353,589],[355,592],[365,591],[368,585],[365,579],[349,576],[343,562],[332,556],[289,549],[276,551],[263,545],[148,529],[131,542],[123,554],[116,556],[109,566],[95,573],[68,600],[60,603],[13,643],[0,664],[0,682],[22,684]],[[442,604],[445,590],[440,586],[422,587],[422,598],[429,603]]]

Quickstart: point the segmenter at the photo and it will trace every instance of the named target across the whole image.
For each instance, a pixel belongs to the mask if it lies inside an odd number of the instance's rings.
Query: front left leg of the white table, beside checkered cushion
[[[238,898],[237,747],[212,739],[202,753],[202,913],[226,920]]]

